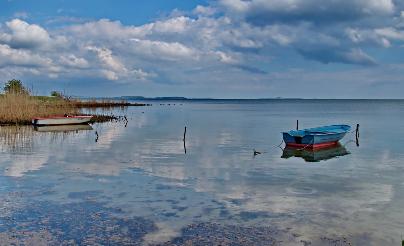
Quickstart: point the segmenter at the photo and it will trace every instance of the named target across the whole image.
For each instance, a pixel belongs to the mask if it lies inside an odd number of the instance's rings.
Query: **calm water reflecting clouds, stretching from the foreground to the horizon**
[[[4,245],[400,245],[404,100],[133,102],[156,105],[114,109],[126,125],[1,126]],[[297,120],[359,138],[276,148]]]

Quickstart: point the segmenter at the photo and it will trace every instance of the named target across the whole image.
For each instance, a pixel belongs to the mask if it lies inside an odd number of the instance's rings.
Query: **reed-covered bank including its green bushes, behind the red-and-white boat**
[[[84,107],[111,107],[111,106],[145,106],[151,104],[130,104],[124,100],[114,99],[87,99],[82,100],[63,92],[53,91],[51,96],[32,96],[17,79],[7,81],[1,88],[0,94],[0,125],[4,124],[31,124],[33,117],[51,117],[61,115],[88,115],[83,114]],[[93,122],[119,121],[123,117],[114,115],[97,115]]]

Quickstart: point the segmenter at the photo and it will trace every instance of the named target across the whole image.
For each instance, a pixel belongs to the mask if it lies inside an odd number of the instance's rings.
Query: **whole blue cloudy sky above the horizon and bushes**
[[[0,0],[36,94],[404,99],[403,0]]]

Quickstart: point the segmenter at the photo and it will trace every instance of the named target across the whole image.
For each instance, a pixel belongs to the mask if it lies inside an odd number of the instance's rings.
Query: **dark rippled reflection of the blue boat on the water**
[[[337,142],[331,146],[326,146],[324,148],[315,148],[312,150],[284,148],[281,158],[289,158],[295,156],[295,157],[301,157],[307,162],[316,162],[347,154],[351,154],[351,152],[349,152],[345,148],[345,146],[341,145],[340,142]]]

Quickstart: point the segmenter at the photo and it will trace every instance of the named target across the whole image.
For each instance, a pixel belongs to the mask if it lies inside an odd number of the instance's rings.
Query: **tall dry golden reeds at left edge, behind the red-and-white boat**
[[[0,94],[0,124],[29,124],[32,117],[82,114],[73,103],[47,96]]]

